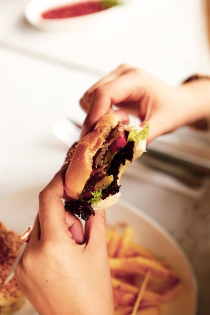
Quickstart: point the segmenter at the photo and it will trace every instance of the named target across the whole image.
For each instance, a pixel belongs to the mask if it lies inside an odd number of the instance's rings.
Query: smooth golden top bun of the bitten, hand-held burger
[[[65,174],[64,190],[69,199],[79,198],[92,173],[94,155],[103,147],[104,139],[120,121],[118,115],[105,115],[99,119],[94,130],[78,142]]]

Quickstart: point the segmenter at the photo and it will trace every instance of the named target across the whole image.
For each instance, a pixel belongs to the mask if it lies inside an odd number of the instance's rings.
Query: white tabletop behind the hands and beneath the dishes
[[[60,116],[83,121],[79,99],[101,75],[126,62],[177,84],[207,64],[198,0],[133,0],[123,21],[57,33],[27,24],[27,3],[0,0],[0,196],[51,179],[66,153],[51,126]],[[200,315],[210,313],[209,192],[189,198],[129,172],[121,180],[122,198],[166,227],[188,256]]]

